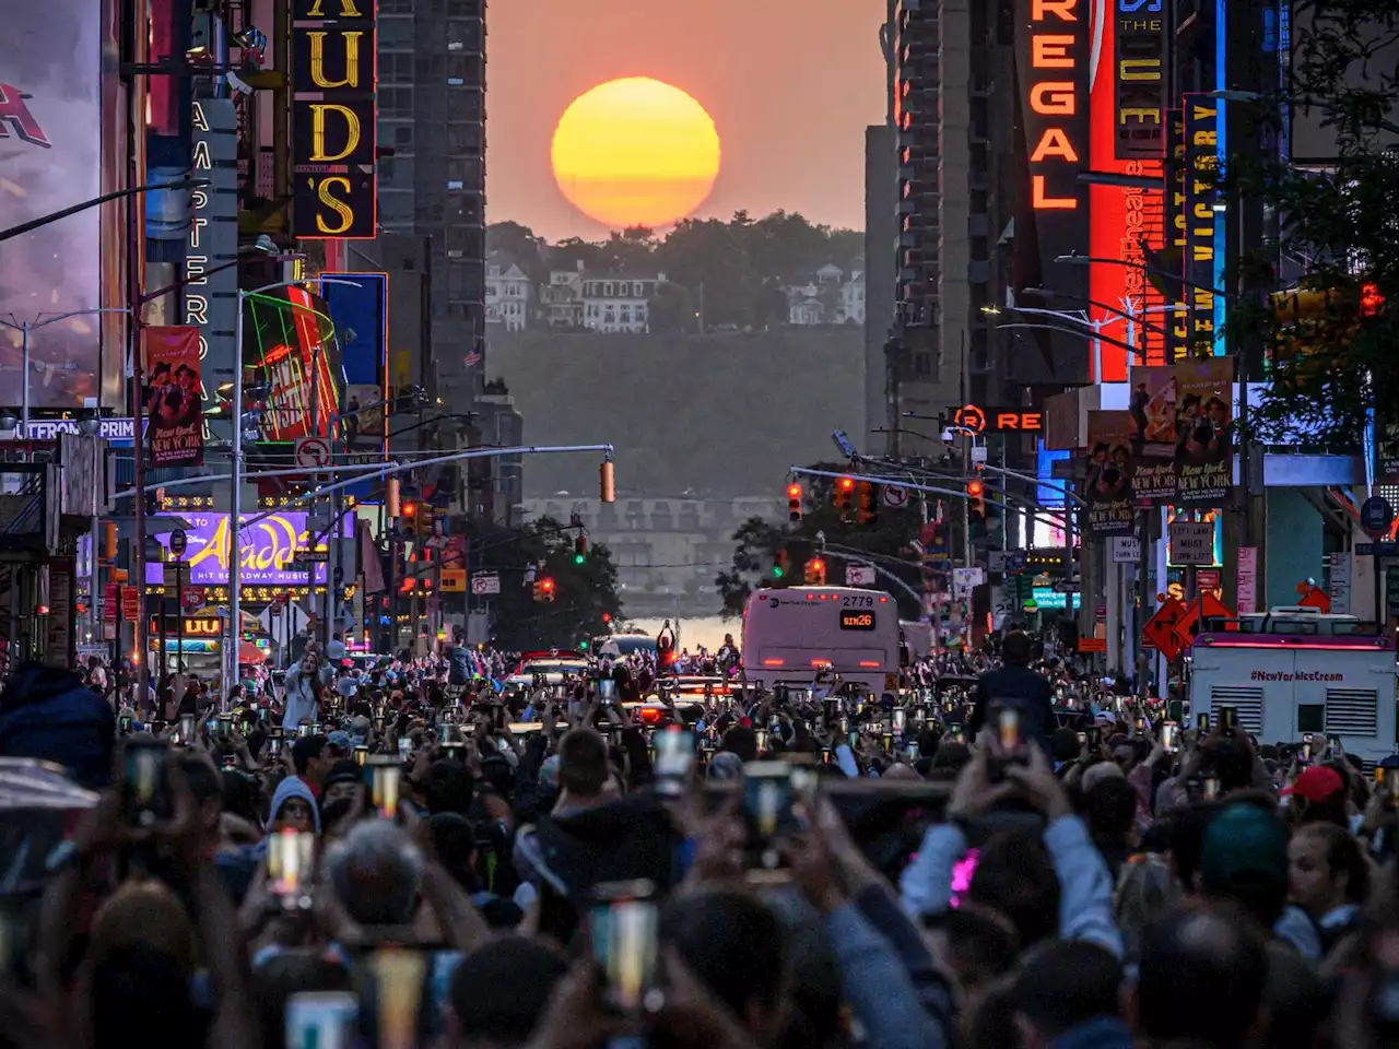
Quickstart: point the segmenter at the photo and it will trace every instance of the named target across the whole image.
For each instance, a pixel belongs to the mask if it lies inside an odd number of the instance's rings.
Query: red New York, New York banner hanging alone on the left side
[[[201,466],[204,410],[199,382],[199,329],[147,327],[145,429],[152,466]]]

